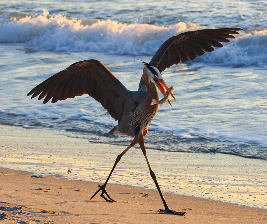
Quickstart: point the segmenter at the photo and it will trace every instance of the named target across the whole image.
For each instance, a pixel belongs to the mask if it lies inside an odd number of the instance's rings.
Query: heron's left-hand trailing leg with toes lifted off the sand
[[[146,131],[147,132],[147,131]],[[116,160],[115,160],[115,163],[114,163],[114,165],[113,165],[113,167],[112,167],[112,170],[111,170],[111,172],[109,173],[109,175],[108,175],[108,177],[107,177],[107,179],[106,179],[106,182],[102,185],[102,186],[100,186],[99,184],[98,184],[98,187],[99,187],[99,189],[95,192],[95,194],[90,198],[90,200],[93,198],[93,197],[95,197],[95,195],[99,192],[99,191],[102,191],[102,193],[101,193],[101,197],[102,198],[104,198],[106,201],[108,201],[108,202],[116,202],[115,200],[113,200],[108,194],[107,194],[107,192],[106,192],[106,184],[107,184],[107,182],[108,182],[108,180],[109,180],[109,178],[110,178],[110,176],[111,176],[111,174],[112,174],[112,172],[113,172],[113,170],[115,169],[115,167],[116,167],[116,165],[117,165],[117,163],[121,160],[121,158],[122,158],[122,156],[131,148],[131,147],[133,147],[136,143],[138,143],[138,140],[137,140],[137,138],[135,137],[134,138],[134,140],[131,142],[131,144],[120,154],[120,155],[118,155],[117,156],[117,158],[116,158]],[[109,198],[109,199],[107,199],[106,197],[105,197],[105,195],[104,194],[106,194],[106,196]]]

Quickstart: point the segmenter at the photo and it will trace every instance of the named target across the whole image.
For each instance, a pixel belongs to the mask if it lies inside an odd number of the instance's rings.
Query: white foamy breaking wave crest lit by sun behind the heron
[[[104,52],[107,54],[153,55],[169,37],[188,30],[206,29],[194,23],[172,26],[145,23],[126,24],[111,20],[69,19],[62,14],[2,14],[0,42],[24,43],[39,51]],[[199,61],[219,66],[260,66],[267,63],[267,30],[242,31],[219,51],[205,54]]]

